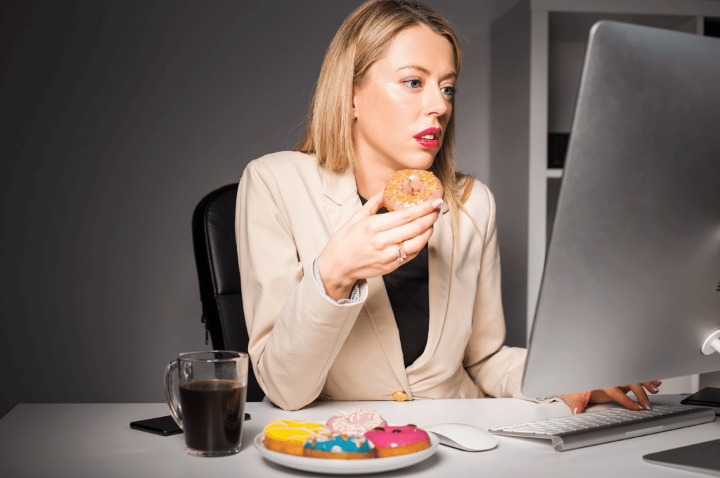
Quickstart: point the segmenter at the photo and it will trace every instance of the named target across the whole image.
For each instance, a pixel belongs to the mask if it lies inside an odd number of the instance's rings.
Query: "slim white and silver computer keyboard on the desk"
[[[710,408],[691,405],[655,405],[652,410],[632,412],[611,408],[602,412],[585,412],[562,418],[492,428],[490,433],[552,440],[557,451],[608,441],[624,440],[660,431],[700,425],[715,420]]]

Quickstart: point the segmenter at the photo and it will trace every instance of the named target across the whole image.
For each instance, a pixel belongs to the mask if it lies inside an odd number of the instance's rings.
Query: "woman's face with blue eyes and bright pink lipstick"
[[[456,71],[450,42],[426,26],[402,30],[353,96],[355,149],[382,176],[428,169],[452,113]]]

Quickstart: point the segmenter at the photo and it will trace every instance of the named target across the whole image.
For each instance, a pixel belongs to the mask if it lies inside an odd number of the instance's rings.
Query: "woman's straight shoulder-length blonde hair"
[[[328,171],[357,172],[353,134],[353,92],[361,88],[369,68],[387,53],[390,42],[402,30],[425,25],[447,38],[453,48],[455,71],[460,73],[460,43],[446,20],[416,1],[370,0],[359,6],[340,27],[320,70],[318,86],[307,113],[305,132],[296,151],[315,154],[318,165]],[[451,213],[453,235],[458,231],[458,211],[467,201],[473,181],[455,172],[455,99],[435,156],[432,171],[445,189],[444,202]]]

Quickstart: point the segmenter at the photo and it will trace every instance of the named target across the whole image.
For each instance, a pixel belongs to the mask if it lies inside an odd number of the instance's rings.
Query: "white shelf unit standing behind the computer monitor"
[[[588,33],[600,19],[703,34],[717,0],[523,0],[491,26],[490,187],[498,204],[507,343],[532,328],[562,170],[548,133],[570,132]],[[695,381],[697,382],[697,381]]]

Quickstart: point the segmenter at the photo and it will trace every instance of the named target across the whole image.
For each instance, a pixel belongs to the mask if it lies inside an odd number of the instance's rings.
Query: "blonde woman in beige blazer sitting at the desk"
[[[369,1],[328,48],[297,150],[243,173],[249,352],[276,405],[524,398],[526,351],[503,346],[495,203],[454,171],[461,64],[438,14]],[[444,198],[376,214],[385,184],[407,168],[433,171]],[[631,388],[647,402],[642,385]],[[563,398],[574,412],[589,400],[641,408],[618,388]]]

